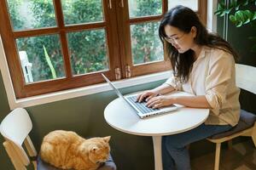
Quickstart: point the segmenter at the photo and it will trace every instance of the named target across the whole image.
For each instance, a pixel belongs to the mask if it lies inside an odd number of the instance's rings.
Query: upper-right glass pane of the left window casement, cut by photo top
[[[66,25],[102,21],[102,0],[62,0]]]

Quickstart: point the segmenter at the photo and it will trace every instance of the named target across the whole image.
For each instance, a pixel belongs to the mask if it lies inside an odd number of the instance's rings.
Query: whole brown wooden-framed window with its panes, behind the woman
[[[203,0],[0,1],[16,98],[169,70],[158,26],[177,4],[206,23]]]

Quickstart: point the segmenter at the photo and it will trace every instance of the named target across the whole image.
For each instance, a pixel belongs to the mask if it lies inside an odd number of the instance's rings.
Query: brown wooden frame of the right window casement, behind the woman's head
[[[120,3],[118,3],[118,20],[119,24],[119,35],[123,35],[123,37],[119,38],[120,44],[120,54],[123,70],[123,77],[125,77],[125,69],[126,65],[129,65],[131,68],[131,77],[137,77],[145,74],[150,74],[154,72],[160,71],[168,71],[171,68],[171,62],[168,59],[168,56],[164,54],[164,60],[159,62],[146,63],[143,65],[133,65],[132,63],[132,55],[131,55],[131,25],[142,24],[150,21],[160,21],[161,18],[166,14],[168,10],[168,1],[162,0],[162,11],[163,13],[156,16],[145,16],[139,18],[129,18],[129,9],[128,9],[128,1],[124,1],[124,7],[120,8]],[[198,0],[198,11],[197,14],[201,18],[203,24],[207,25],[207,1]],[[128,24],[127,24],[128,23]],[[129,42],[129,43],[125,43]],[[152,69],[154,68],[154,69]]]

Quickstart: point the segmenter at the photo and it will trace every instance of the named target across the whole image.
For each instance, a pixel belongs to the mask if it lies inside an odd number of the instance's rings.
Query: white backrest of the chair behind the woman
[[[236,64],[236,86],[256,94],[256,67]]]

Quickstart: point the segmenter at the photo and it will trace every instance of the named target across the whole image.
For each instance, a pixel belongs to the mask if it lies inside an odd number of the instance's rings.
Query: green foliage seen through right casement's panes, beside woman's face
[[[156,10],[156,12],[152,12]],[[135,16],[162,13],[160,0],[137,0]],[[131,26],[133,64],[143,64],[163,59],[163,49],[158,37],[158,22],[148,22]]]

